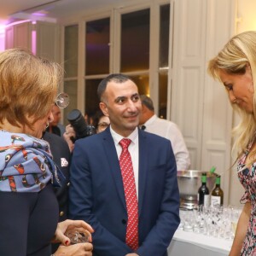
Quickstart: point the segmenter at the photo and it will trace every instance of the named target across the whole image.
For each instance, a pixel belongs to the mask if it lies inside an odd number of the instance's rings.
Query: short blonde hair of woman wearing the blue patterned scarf
[[[0,53],[0,123],[7,120],[17,127],[32,128],[49,113],[61,78],[59,64],[25,49]]]

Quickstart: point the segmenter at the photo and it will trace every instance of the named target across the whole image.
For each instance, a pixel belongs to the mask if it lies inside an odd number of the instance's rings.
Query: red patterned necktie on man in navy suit
[[[125,201],[128,214],[128,222],[126,229],[126,244],[134,251],[138,248],[138,210],[137,210],[137,194],[135,187],[135,179],[131,162],[131,154],[128,147],[131,143],[130,139],[123,138],[119,144],[123,148],[120,154],[119,164],[123,177],[125,189]]]

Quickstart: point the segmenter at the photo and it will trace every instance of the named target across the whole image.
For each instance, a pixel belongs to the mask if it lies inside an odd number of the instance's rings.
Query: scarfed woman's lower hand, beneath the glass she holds
[[[60,246],[55,256],[92,256],[92,244],[90,242],[77,243],[68,247]]]

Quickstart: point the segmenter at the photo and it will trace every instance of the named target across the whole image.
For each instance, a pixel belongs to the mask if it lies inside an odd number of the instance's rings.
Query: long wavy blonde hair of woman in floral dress
[[[238,108],[236,104],[231,104],[241,117],[240,123],[232,131],[235,138],[232,154],[237,153],[236,159],[246,151],[247,145],[253,141],[256,131],[256,32],[242,32],[231,38],[224,45],[224,49],[209,61],[207,68],[213,79],[221,81],[219,71],[222,70],[229,74],[244,74],[247,65],[250,65],[253,76],[253,113],[247,113]],[[252,162],[255,159],[256,151],[252,152]]]

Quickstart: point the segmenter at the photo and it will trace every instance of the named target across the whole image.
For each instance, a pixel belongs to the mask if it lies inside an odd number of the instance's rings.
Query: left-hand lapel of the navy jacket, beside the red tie
[[[116,148],[113,142],[113,137],[111,136],[109,128],[107,128],[106,131],[102,132],[102,136],[103,136],[102,143],[103,143],[105,153],[107,155],[109,171],[113,177],[120,201],[122,201],[122,204],[126,210],[125,192],[124,192],[121,170],[119,166],[119,159],[118,159]]]

